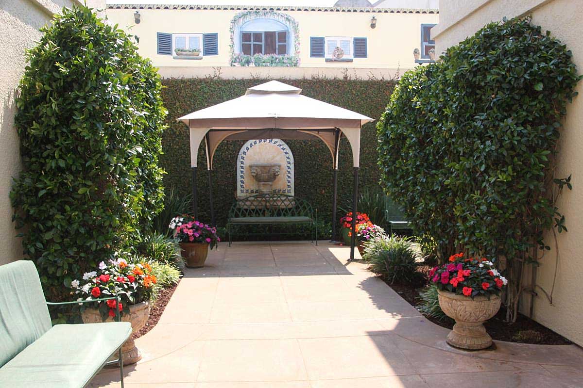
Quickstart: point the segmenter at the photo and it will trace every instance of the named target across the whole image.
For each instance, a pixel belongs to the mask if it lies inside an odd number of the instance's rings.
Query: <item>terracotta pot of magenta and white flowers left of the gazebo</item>
[[[220,241],[215,227],[199,222],[187,214],[174,217],[168,227],[173,230],[174,238],[180,241],[182,257],[188,268],[201,268],[205,265],[209,247],[216,248]]]

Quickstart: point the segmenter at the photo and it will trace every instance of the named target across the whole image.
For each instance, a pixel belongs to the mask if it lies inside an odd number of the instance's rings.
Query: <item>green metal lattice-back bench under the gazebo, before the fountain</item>
[[[245,225],[309,225],[312,241],[318,245],[318,209],[301,198],[286,194],[256,194],[241,198],[229,211],[227,233],[229,246],[235,230]],[[241,233],[243,234],[243,233]],[[261,233],[245,233],[248,235]],[[288,233],[270,233],[288,234]]]

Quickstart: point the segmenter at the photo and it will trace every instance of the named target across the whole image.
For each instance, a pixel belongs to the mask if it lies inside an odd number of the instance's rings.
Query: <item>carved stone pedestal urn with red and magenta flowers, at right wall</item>
[[[483,323],[500,308],[500,292],[508,283],[491,261],[451,255],[449,261],[431,269],[430,279],[437,285],[442,311],[455,320],[447,343],[463,349],[489,347],[492,339]]]

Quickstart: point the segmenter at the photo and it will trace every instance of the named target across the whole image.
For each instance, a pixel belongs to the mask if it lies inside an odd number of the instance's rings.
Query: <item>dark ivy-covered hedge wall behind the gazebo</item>
[[[268,79],[225,80],[219,77],[166,79],[163,80],[162,95],[168,109],[166,118],[168,129],[162,140],[164,155],[160,162],[167,175],[164,185],[168,191],[175,187],[178,194],[191,192],[191,169],[188,144],[188,129],[175,119],[187,113],[206,108],[219,102],[239,97],[248,87],[269,81]],[[287,84],[303,89],[302,94],[330,104],[342,106],[367,115],[380,118],[392,94],[395,82],[392,80],[361,79],[281,79]],[[226,223],[227,213],[234,201],[235,163],[243,141],[225,141],[216,151],[213,166],[213,200],[217,225]],[[296,195],[310,201],[318,209],[318,218],[326,220],[332,214],[332,157],[319,140],[287,140],[294,155]],[[202,143],[203,144],[203,143]],[[204,146],[198,153],[199,215],[209,220],[208,182]],[[375,123],[363,127],[360,156],[360,187],[375,186],[379,181],[377,167],[377,138]],[[340,145],[338,173],[338,204],[342,206],[352,193],[352,155],[346,140]]]

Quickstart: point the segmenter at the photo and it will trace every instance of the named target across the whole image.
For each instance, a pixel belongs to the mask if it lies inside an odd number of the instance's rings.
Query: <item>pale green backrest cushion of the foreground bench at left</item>
[[[51,318],[33,262],[0,265],[0,367],[50,328]]]

